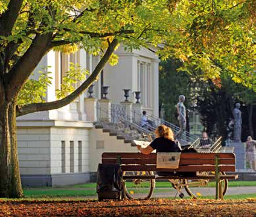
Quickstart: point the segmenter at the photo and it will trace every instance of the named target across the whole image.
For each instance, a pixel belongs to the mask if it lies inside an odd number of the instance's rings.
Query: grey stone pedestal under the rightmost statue
[[[236,169],[246,168],[246,146],[243,142],[230,142],[228,147],[234,148],[234,153],[236,155]]]

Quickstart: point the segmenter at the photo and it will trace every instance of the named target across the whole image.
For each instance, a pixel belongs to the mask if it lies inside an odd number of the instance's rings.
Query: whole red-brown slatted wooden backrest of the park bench
[[[221,172],[235,172],[234,153],[181,153],[178,168],[157,168],[157,154],[151,153],[113,153],[101,155],[102,163],[121,163],[123,171],[178,171],[178,172],[209,172],[215,171],[215,156]],[[118,162],[120,160],[120,162]]]

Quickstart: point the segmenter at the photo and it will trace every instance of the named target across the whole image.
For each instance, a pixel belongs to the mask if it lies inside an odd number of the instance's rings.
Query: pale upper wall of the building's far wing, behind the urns
[[[118,55],[118,64],[116,66],[110,66],[107,64],[104,69],[104,85],[110,86],[108,98],[113,100],[115,103],[124,101],[123,89],[130,89],[130,98],[132,102],[136,102],[134,98],[134,91],[141,91],[141,98],[145,94],[150,95],[150,103],[147,100],[145,104],[145,98],[141,101],[143,109],[147,110],[149,114],[153,114],[158,117],[159,113],[159,58],[155,53],[148,49],[141,48],[140,50],[133,50],[133,52],[127,52],[124,47],[116,50]],[[143,70],[140,72],[140,65],[148,67],[149,71]],[[146,66],[147,65],[147,66]],[[143,74],[141,77],[144,84],[143,88],[140,87],[140,73]],[[150,73],[150,75],[149,75]],[[147,77],[150,76],[148,81]],[[145,89],[145,83],[150,82],[150,90]],[[149,106],[150,104],[150,106]]]

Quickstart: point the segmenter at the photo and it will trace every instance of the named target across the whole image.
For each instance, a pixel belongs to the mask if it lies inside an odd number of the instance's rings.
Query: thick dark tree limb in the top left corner
[[[8,9],[0,17],[0,35],[11,35],[13,26],[18,18],[23,0],[10,0]]]

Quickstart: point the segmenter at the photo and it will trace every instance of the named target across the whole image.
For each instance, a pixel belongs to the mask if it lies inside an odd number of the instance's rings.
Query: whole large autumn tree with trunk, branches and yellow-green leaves
[[[72,102],[107,61],[116,63],[120,43],[127,50],[160,46],[159,56],[182,60],[183,71],[200,69],[203,79],[217,84],[226,73],[256,90],[253,9],[253,0],[0,0],[0,197],[23,194],[16,116]],[[60,100],[18,105],[25,83],[51,49],[85,49],[101,59],[80,87],[66,88],[69,94]],[[49,83],[41,81],[43,87]]]

